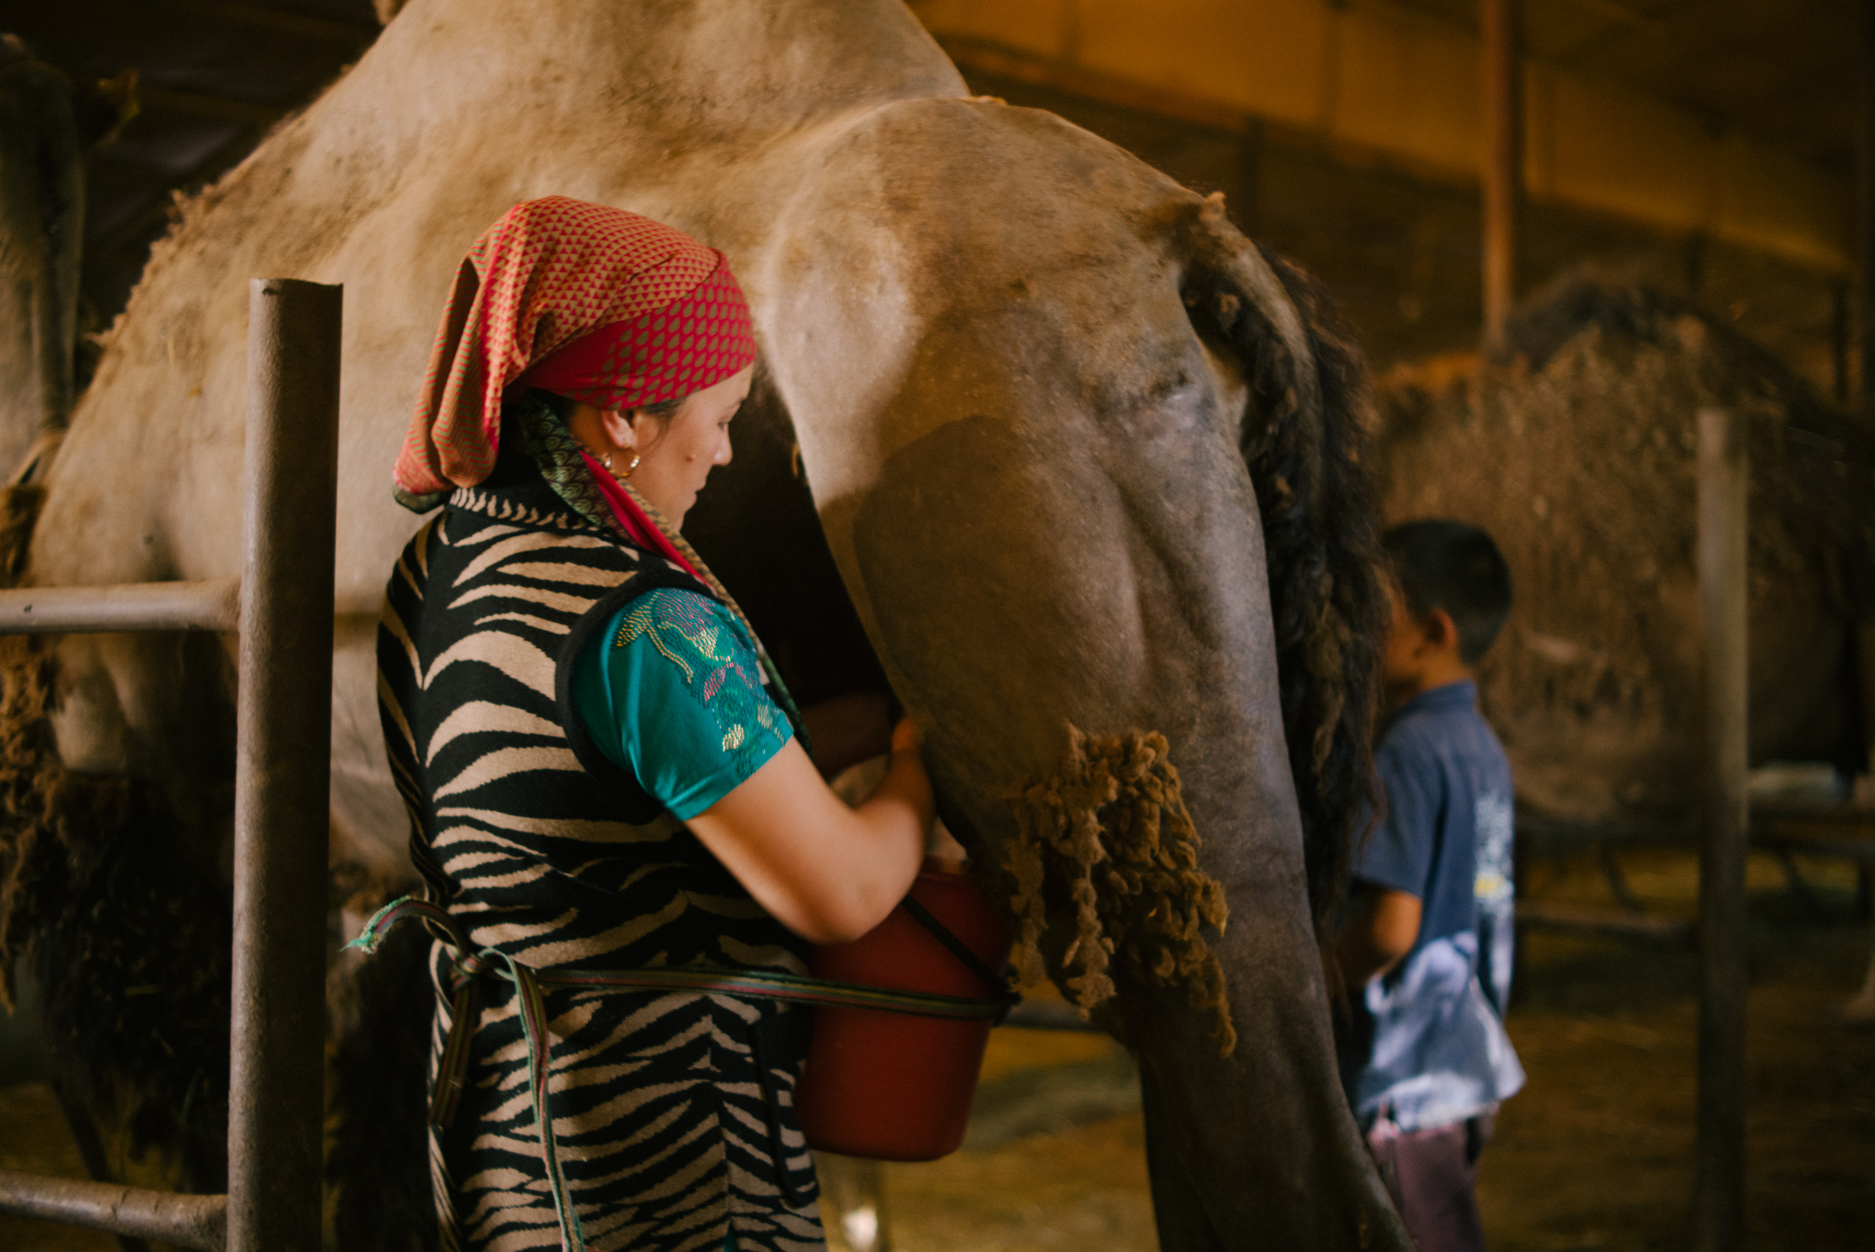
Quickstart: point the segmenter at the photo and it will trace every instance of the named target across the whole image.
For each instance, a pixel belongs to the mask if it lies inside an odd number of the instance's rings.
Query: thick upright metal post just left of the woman
[[[253,279],[229,1252],[319,1252],[339,287]]]

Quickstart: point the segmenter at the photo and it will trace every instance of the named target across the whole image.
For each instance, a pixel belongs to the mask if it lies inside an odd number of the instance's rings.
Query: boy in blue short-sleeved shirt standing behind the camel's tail
[[[1393,626],[1386,791],[1354,857],[1337,960],[1354,1001],[1348,1100],[1421,1252],[1481,1252],[1474,1181],[1498,1100],[1522,1087],[1511,980],[1511,768],[1474,665],[1511,607],[1491,536],[1457,521],[1386,532]]]

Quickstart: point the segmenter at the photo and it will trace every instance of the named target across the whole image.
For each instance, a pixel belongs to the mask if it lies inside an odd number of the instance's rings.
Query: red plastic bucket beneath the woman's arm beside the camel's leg
[[[1009,930],[962,873],[926,860],[911,885],[924,905],[990,969],[1009,956]],[[904,905],[853,943],[814,948],[816,978],[894,991],[992,997],[954,952]],[[795,1089],[808,1145],[874,1160],[936,1160],[956,1151],[990,1042],[990,1021],[913,1018],[878,1008],[814,1010],[814,1048]]]

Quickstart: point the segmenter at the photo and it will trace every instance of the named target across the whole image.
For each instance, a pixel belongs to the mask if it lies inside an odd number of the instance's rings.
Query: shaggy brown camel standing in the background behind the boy
[[[1380,384],[1388,521],[1472,521],[1509,560],[1517,605],[1481,693],[1538,810],[1678,817],[1693,802],[1706,407],[1749,422],[1753,757],[1854,767],[1875,455],[1813,386],[1729,322],[1594,274],[1528,302],[1508,362],[1444,358]]]

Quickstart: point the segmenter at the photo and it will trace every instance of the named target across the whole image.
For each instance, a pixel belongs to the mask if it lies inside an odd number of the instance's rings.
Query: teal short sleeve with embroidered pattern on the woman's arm
[[[600,750],[682,821],[793,738],[735,617],[688,590],[660,587],[619,609],[585,645],[574,684]]]

